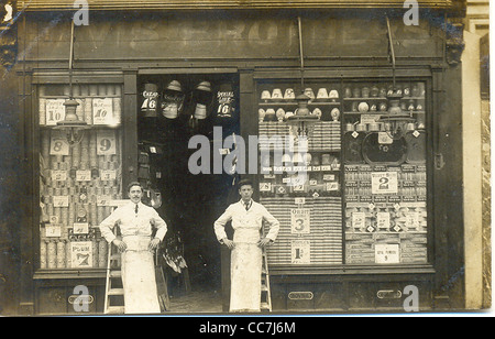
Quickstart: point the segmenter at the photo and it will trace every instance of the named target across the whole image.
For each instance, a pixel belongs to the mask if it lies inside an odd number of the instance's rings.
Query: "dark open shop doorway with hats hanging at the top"
[[[165,267],[169,294],[220,296],[221,253],[213,222],[232,203],[234,177],[213,174],[212,163],[209,173],[193,174],[189,158],[198,146],[189,149],[189,140],[206,136],[213,158],[220,152],[213,150],[213,127],[221,127],[222,140],[239,135],[239,76],[151,75],[140,77],[138,86],[138,177],[147,187],[148,204],[168,225],[164,247],[170,260]]]

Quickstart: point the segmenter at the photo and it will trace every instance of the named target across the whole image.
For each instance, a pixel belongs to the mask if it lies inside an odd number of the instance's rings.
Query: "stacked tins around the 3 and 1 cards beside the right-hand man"
[[[342,263],[342,200],[340,197],[307,197],[304,205],[296,205],[290,197],[262,198],[261,204],[280,222],[277,241],[267,249],[268,263],[341,264]],[[297,209],[309,211],[309,228],[295,231],[292,214]],[[265,230],[266,233],[267,230]],[[305,241],[309,256],[305,262],[295,261],[295,243]]]

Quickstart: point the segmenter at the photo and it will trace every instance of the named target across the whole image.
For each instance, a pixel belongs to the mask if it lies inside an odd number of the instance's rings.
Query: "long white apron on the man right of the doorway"
[[[260,311],[262,249],[257,228],[237,228],[231,254],[230,311]]]

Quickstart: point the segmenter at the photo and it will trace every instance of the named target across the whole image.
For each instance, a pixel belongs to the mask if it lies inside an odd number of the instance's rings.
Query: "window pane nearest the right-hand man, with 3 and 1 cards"
[[[307,131],[288,124],[300,109],[295,100],[300,92],[289,83],[261,84],[257,91],[261,204],[280,221],[277,241],[267,249],[268,263],[341,264],[340,85],[305,87],[309,114],[316,117]]]

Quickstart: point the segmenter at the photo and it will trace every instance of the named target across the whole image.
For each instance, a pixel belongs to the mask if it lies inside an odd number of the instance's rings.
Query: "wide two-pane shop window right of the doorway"
[[[272,265],[427,263],[425,86],[308,83],[318,119],[301,153],[287,123],[301,88],[258,84],[261,203],[280,221]]]

